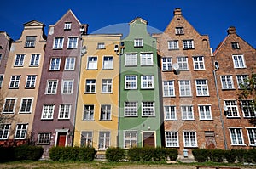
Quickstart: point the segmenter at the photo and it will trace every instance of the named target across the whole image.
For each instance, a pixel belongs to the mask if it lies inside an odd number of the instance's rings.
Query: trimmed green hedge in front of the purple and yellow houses
[[[90,147],[52,147],[49,158],[53,161],[93,161],[96,150]]]

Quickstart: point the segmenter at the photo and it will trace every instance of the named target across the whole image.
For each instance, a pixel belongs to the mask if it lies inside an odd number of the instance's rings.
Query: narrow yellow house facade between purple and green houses
[[[117,147],[120,34],[83,36],[74,146]]]

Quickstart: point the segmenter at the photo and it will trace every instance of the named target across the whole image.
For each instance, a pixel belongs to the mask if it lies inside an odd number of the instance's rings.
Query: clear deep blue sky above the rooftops
[[[44,0],[1,2],[0,30],[17,40],[23,24],[38,20],[46,25],[55,24],[68,9],[79,21],[89,24],[89,33],[109,25],[126,24],[135,17],[148,20],[148,25],[164,31],[172,20],[173,10],[181,8],[183,16],[202,35],[210,37],[216,48],[227,35],[230,25],[237,34],[256,48],[255,0]],[[122,32],[116,32],[122,33]]]

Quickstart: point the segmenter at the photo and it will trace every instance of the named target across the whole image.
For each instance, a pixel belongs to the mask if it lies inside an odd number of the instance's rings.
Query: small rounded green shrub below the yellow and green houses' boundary
[[[119,147],[108,148],[106,151],[106,158],[108,161],[121,161],[125,158],[125,150]]]

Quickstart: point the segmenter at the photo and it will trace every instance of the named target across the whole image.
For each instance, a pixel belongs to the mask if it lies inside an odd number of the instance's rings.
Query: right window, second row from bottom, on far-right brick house
[[[256,116],[255,104],[253,100],[241,100],[241,110],[244,117],[251,118]]]

